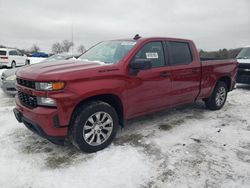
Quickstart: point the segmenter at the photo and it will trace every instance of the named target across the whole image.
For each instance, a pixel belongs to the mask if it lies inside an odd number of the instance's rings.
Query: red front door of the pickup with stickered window
[[[136,59],[150,59],[152,68],[130,76],[127,88],[128,118],[159,110],[170,104],[171,78],[161,41],[146,43],[135,55]]]

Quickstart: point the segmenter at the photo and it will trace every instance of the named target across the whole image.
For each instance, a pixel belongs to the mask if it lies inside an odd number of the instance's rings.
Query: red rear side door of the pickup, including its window
[[[200,62],[194,58],[189,42],[165,44],[170,54],[173,106],[193,102],[200,90]]]

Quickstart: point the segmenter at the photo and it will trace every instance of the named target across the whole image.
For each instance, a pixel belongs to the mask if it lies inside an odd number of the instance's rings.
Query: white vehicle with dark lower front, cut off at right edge
[[[236,58],[239,62],[237,83],[250,84],[250,46],[244,47]]]

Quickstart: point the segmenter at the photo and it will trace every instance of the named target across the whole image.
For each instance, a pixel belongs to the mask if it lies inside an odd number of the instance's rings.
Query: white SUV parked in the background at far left
[[[29,64],[26,55],[17,49],[0,48],[0,67],[18,67]]]

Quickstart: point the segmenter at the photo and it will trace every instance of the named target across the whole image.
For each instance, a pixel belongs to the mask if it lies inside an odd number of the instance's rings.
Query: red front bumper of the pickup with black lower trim
[[[23,106],[16,96],[14,114],[17,121],[24,123],[31,131],[55,144],[64,144],[68,135],[68,126],[59,125],[56,108],[37,107],[29,109]]]

